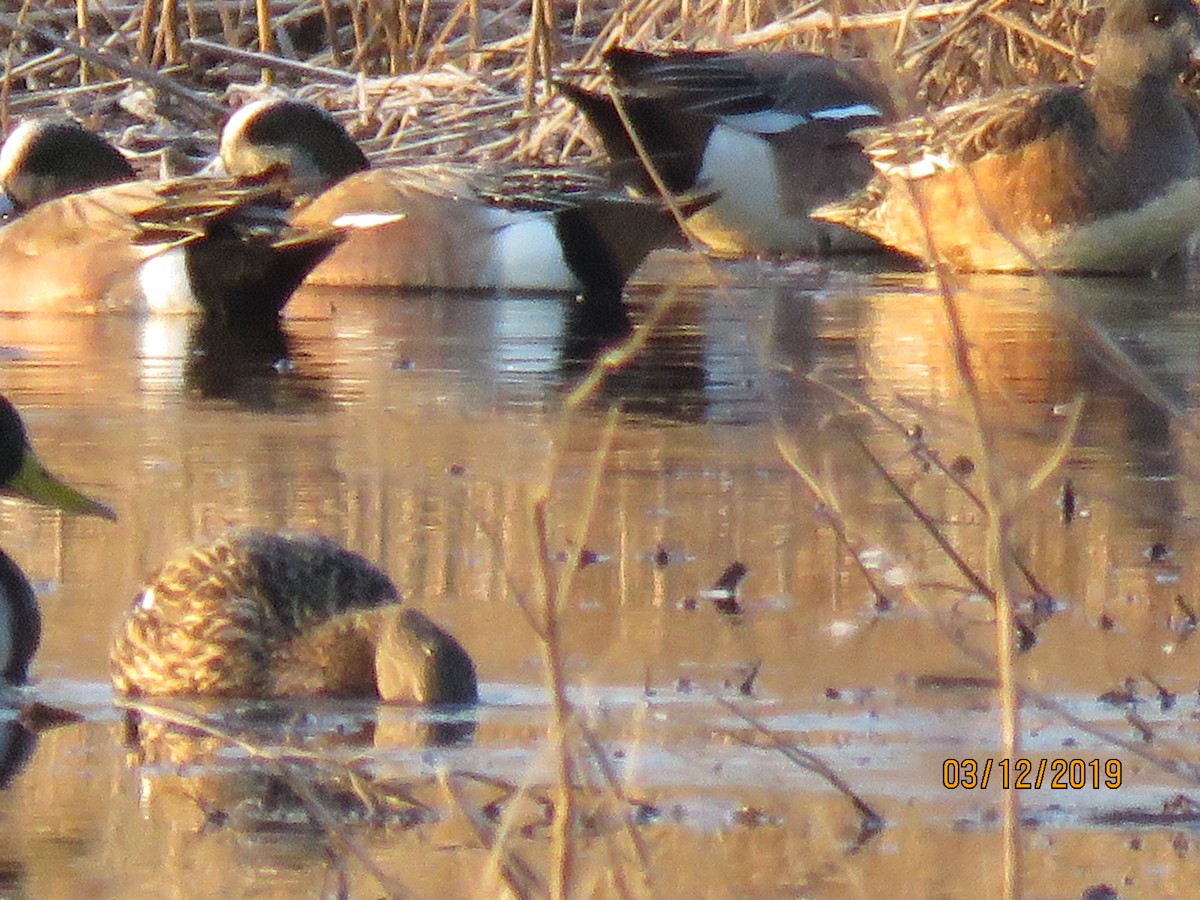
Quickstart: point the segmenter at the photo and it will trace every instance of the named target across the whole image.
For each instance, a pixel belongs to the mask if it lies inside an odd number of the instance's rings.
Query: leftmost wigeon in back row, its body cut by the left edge
[[[264,179],[139,180],[98,134],[31,119],[0,148],[5,312],[200,312],[275,319],[342,240],[287,220]]]

